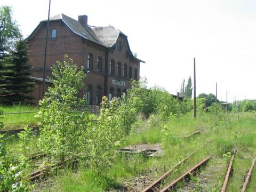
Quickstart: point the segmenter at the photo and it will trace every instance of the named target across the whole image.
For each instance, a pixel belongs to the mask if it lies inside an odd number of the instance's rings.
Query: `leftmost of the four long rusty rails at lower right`
[[[187,161],[187,159],[189,157],[191,157],[192,155],[194,155],[199,149],[201,149],[203,146],[205,146],[207,143],[209,143],[209,141],[206,141],[202,146],[200,146],[199,148],[197,148],[193,153],[189,154],[187,157],[185,157],[181,162],[179,162],[177,165],[175,165],[172,169],[170,169],[169,171],[167,171],[166,173],[164,173],[161,177],[159,177],[157,180],[155,180],[150,186],[148,186],[147,188],[145,188],[142,192],[148,192],[148,191],[153,191],[154,188],[156,188],[165,178],[167,175],[169,175],[174,169],[176,169],[178,166],[180,166],[182,163],[184,163],[185,161]]]

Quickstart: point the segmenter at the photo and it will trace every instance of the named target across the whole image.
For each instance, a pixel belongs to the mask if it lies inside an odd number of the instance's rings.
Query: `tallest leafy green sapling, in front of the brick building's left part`
[[[83,68],[78,69],[71,58],[65,55],[63,63],[57,61],[52,67],[53,87],[48,89],[39,102],[41,109],[37,115],[40,124],[38,147],[48,157],[62,163],[67,157],[77,156],[79,138],[84,137],[89,112],[83,110],[85,98],[78,93],[84,86]],[[50,159],[50,158],[49,158]]]

